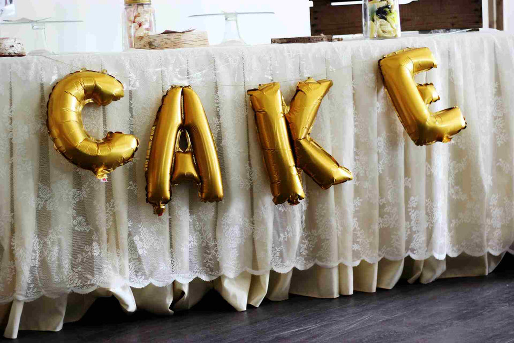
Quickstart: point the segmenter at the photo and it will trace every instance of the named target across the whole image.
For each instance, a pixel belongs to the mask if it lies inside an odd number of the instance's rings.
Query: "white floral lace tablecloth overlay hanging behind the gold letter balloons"
[[[458,104],[468,128],[448,144],[419,148],[388,101],[377,61],[423,46],[439,65],[416,77],[441,96],[432,111]],[[86,107],[88,132],[140,139],[134,160],[108,183],[68,163],[46,131],[52,86],[82,67],[107,69],[125,85],[121,100]],[[0,302],[244,270],[513,251],[509,35],[6,58],[0,75]],[[274,206],[246,91],[279,81],[289,101],[308,76],[334,81],[312,136],[355,179],[321,190],[304,175],[306,200]],[[190,84],[204,104],[225,198],[203,204],[194,186],[175,186],[157,217],[145,202],[145,147],[173,84]]]

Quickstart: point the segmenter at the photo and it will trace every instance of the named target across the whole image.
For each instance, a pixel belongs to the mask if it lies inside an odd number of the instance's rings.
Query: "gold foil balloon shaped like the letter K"
[[[299,170],[323,189],[353,179],[310,137],[318,109],[332,81],[308,78],[297,86],[290,108],[285,104],[277,82],[250,89],[250,102],[271,182],[273,202],[298,204],[305,197]],[[291,149],[291,144],[294,149]]]

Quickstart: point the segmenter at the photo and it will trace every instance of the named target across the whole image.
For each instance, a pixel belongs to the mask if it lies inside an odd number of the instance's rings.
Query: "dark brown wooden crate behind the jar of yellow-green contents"
[[[347,0],[346,0],[347,1]],[[362,5],[332,6],[313,0],[310,34],[362,33]],[[418,0],[400,5],[402,31],[482,27],[482,0]]]

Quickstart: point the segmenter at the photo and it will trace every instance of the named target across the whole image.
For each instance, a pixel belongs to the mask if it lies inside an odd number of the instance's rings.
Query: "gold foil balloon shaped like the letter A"
[[[188,148],[179,148],[186,135]],[[190,86],[172,86],[162,98],[146,153],[146,201],[162,215],[170,184],[199,184],[200,201],[223,200],[223,183],[214,139],[198,95]]]

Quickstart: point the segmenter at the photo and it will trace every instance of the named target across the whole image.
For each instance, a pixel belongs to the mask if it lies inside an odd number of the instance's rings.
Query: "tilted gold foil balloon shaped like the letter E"
[[[414,82],[414,75],[437,67],[429,48],[396,51],[384,56],[378,65],[398,118],[416,145],[449,142],[466,129],[458,107],[431,113],[428,105],[439,100],[434,85]]]

